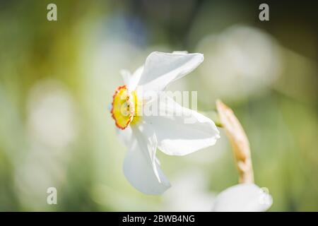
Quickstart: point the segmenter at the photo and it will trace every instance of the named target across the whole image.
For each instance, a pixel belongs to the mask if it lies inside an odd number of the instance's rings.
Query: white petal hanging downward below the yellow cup
[[[170,183],[155,160],[155,135],[146,126],[132,129],[134,143],[124,160],[126,179],[144,194],[163,194]]]

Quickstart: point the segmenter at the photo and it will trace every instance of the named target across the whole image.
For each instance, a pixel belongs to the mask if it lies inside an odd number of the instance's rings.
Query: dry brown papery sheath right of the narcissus
[[[218,118],[220,124],[225,129],[226,135],[232,145],[235,155],[235,162],[239,173],[239,182],[254,183],[254,174],[251,159],[251,150],[249,148],[249,140],[240,124],[235,117],[232,109],[226,106],[222,101],[216,101],[216,109],[218,110]]]

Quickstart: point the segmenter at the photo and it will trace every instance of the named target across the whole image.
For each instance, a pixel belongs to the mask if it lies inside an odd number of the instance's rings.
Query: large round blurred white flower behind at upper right
[[[281,72],[280,48],[263,30],[235,25],[204,37],[197,47],[209,64],[200,67],[210,100],[242,100],[276,80]],[[214,99],[214,100],[213,100]],[[207,102],[208,100],[201,100]]]

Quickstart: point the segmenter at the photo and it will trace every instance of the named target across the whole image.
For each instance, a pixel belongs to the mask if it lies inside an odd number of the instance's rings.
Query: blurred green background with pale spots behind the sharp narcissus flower
[[[57,21],[47,4],[57,4]],[[124,178],[126,148],[108,105],[154,50],[201,52],[171,90],[220,98],[242,121],[255,182],[272,211],[318,210],[317,7],[311,1],[0,1],[0,210],[211,210],[237,184],[218,143],[160,155],[172,188],[146,196]],[[47,204],[54,186],[58,204]]]

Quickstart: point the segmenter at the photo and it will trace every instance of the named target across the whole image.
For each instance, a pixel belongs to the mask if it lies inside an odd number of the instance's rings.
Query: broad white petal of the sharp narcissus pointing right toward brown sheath
[[[170,97],[160,98],[158,116],[143,116],[155,130],[158,148],[167,155],[187,155],[214,145],[220,137],[211,119],[177,104]],[[165,114],[163,114],[165,113]]]

